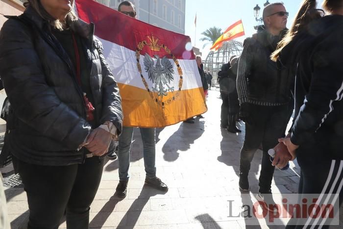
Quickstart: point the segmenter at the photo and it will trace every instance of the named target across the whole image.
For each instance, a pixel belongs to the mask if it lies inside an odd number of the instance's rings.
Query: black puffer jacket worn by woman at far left
[[[49,26],[28,7],[1,29],[0,76],[11,103],[4,149],[32,164],[83,163],[86,150],[76,149],[92,127],[85,120],[71,60]],[[88,53],[95,121],[110,121],[121,132],[121,98],[101,43],[94,38],[94,24],[78,20],[70,28],[83,38]]]

